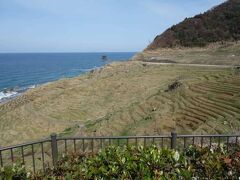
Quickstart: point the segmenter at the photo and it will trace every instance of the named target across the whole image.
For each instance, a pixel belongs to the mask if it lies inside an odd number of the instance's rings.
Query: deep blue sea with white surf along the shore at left
[[[134,54],[0,53],[0,102],[47,82],[75,77],[113,61],[128,61]]]

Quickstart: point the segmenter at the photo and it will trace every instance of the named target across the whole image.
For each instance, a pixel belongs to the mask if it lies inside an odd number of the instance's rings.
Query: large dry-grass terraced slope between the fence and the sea
[[[176,79],[183,86],[164,92]],[[114,63],[0,105],[0,144],[65,135],[225,133],[240,125],[231,69]]]

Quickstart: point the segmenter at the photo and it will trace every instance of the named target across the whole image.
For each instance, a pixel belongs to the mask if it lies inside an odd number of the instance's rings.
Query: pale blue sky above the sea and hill
[[[0,0],[0,52],[137,52],[225,0]]]

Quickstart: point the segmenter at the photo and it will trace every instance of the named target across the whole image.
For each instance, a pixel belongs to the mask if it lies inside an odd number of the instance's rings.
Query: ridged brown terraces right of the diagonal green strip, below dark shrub
[[[240,128],[240,76],[212,74],[179,80],[173,91],[160,89],[113,115],[94,132],[106,134],[236,133]]]

